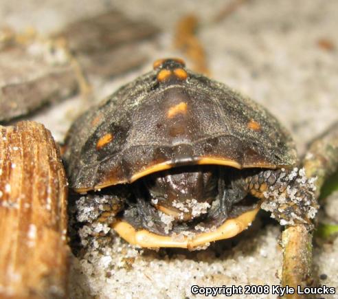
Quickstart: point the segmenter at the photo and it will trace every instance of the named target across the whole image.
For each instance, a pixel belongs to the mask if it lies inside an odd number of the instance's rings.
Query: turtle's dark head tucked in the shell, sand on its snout
[[[206,214],[217,196],[217,169],[214,166],[181,166],[144,179],[150,202],[178,221]]]

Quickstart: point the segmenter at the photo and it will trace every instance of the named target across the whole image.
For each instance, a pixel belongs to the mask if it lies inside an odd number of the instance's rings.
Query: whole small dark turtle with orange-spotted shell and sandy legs
[[[311,225],[317,211],[284,126],[181,58],[156,60],[80,115],[63,159],[91,221],[139,247],[203,248],[247,229],[261,207],[283,225]]]

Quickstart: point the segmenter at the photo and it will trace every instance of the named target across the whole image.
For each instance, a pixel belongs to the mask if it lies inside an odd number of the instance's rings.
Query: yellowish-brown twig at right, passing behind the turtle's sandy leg
[[[315,197],[318,199],[325,179],[338,170],[338,122],[311,143],[303,166],[307,177],[317,177]],[[290,226],[282,233],[284,287],[289,285],[297,290],[297,285],[304,287],[312,283],[312,237],[304,225]],[[286,298],[304,296],[296,293]]]

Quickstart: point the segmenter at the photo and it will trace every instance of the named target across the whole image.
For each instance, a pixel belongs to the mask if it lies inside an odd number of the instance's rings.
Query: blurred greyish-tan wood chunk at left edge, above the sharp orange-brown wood
[[[24,47],[0,55],[0,122],[71,96],[78,83],[70,65],[50,65]]]

